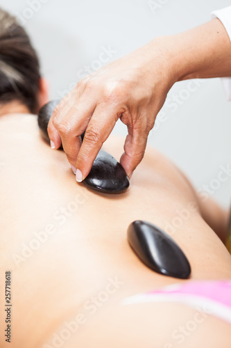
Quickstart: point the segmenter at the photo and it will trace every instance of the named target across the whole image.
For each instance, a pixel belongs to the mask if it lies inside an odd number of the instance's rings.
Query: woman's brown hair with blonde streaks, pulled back
[[[0,103],[19,100],[34,113],[40,85],[40,64],[17,19],[0,8]]]

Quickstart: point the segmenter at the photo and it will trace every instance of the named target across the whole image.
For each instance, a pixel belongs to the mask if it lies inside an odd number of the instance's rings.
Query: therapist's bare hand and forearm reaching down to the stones
[[[62,140],[76,180],[81,181],[120,119],[128,127],[120,161],[130,176],[142,161],[148,133],[171,86],[183,79],[227,76],[231,45],[219,19],[157,37],[78,82],[53,112],[51,146],[59,148]],[[85,129],[81,145],[78,136]]]

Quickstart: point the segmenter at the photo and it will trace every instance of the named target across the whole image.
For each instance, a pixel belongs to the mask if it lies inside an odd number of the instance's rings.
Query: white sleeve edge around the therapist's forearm
[[[212,18],[220,19],[231,41],[231,6],[222,8],[222,10],[212,12]],[[223,77],[221,81],[225,89],[225,95],[227,99],[231,100],[231,77]]]

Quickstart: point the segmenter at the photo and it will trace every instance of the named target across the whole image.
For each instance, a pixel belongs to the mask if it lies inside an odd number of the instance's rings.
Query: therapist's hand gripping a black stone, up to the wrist
[[[173,84],[170,57],[160,40],[106,65],[81,80],[55,108],[49,122],[52,145],[61,140],[67,159],[84,180],[117,120],[128,127],[121,165],[128,176],[144,157],[166,93]],[[80,134],[86,129],[83,144]]]

